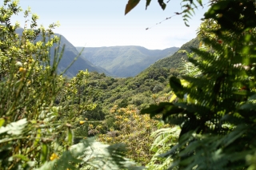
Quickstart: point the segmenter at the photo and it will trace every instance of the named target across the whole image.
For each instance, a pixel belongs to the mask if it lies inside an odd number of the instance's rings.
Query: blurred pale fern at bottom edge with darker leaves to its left
[[[59,158],[52,155],[53,160],[43,164],[43,169],[142,169],[135,167],[134,163],[123,158],[125,146],[114,144],[112,146],[95,142],[94,139],[82,140],[79,144],[74,144]],[[56,157],[56,159],[54,159]],[[66,161],[68,160],[68,162]],[[74,166],[73,162],[79,164]]]

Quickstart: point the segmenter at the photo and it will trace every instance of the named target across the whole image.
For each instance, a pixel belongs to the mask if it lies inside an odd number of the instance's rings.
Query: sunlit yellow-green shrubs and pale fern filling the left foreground
[[[58,74],[64,47],[52,31],[57,25],[38,27],[38,16],[32,14],[30,27],[18,35],[19,25],[12,26],[10,18],[21,10],[18,1],[5,0],[0,12],[1,169],[134,168],[123,158],[122,144],[108,146],[91,139],[73,144],[78,117],[95,107],[79,91],[88,72],[71,80]],[[29,24],[30,10],[24,16]]]

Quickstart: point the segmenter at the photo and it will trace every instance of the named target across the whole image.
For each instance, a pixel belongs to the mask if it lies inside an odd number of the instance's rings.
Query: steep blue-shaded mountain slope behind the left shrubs
[[[22,28],[18,28],[16,30],[17,34],[21,35],[22,32],[23,32]],[[65,45],[65,50],[62,55],[62,60],[58,65],[58,72],[61,73],[70,65],[72,61],[74,61],[74,58],[78,56],[79,52],[74,47],[74,45],[72,45],[64,36],[60,34],[55,34],[55,35],[57,35],[58,37],[61,37],[59,52],[62,50],[63,45]],[[41,39],[42,37],[39,36],[35,41],[40,41]],[[50,49],[51,60],[53,60],[54,58],[54,49],[56,46],[57,45],[54,45]],[[106,71],[106,69],[103,69],[100,66],[93,65],[90,61],[86,60],[86,58],[82,56],[79,56],[78,59],[74,61],[74,64],[71,65],[70,68],[66,70],[65,74],[67,77],[74,77],[79,70],[86,70],[86,69],[88,69],[88,71],[90,72],[96,71],[98,73],[106,73],[106,75],[110,75],[110,73]]]

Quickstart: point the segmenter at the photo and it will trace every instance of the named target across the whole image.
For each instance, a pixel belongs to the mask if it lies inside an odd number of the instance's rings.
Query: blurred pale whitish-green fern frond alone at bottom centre
[[[134,162],[123,157],[125,151],[124,144],[110,146],[94,141],[94,138],[87,138],[81,143],[72,145],[70,147],[71,154],[66,154],[66,156],[79,156],[84,163],[83,169],[142,169],[142,167],[136,167]],[[58,160],[60,165],[63,164],[61,161],[63,158]],[[66,160],[70,160],[70,158]]]

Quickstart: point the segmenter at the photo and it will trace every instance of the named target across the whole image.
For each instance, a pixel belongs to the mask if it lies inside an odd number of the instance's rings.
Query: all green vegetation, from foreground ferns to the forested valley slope
[[[162,10],[168,2],[158,0]],[[210,6],[197,38],[117,78],[86,69],[71,77],[78,57],[59,68],[67,54],[58,25],[39,27],[24,10],[21,30],[10,18],[22,9],[5,0],[0,169],[256,169],[256,1],[181,2],[187,26],[195,8]]]

